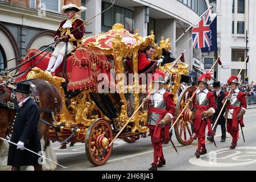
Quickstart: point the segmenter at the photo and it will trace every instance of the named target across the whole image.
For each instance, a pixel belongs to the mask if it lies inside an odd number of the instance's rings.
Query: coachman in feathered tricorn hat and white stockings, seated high
[[[82,37],[84,36],[84,22],[82,19],[76,18],[75,15],[79,11],[84,11],[86,7],[77,7],[76,5],[69,4],[62,7],[64,13],[67,14],[67,19],[60,23],[57,31],[55,32],[55,41],[61,40],[57,44],[52,53],[51,59],[47,67],[47,71],[55,72],[63,61],[66,52],[67,55],[74,51],[77,47],[82,47]]]

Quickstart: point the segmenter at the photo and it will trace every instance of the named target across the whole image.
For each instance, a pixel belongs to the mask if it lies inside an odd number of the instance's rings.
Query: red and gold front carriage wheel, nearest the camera
[[[112,128],[108,121],[99,118],[91,123],[85,137],[85,151],[90,163],[101,166],[108,161],[113,144],[108,145],[112,140]]]

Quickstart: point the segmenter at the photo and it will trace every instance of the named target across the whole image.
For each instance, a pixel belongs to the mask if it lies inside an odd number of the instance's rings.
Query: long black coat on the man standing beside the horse
[[[29,98],[24,102],[23,107],[16,111],[14,119],[13,134],[11,142],[24,143],[24,147],[38,153],[41,151],[41,144],[38,131],[39,108],[38,105]],[[17,146],[10,144],[8,162],[9,166],[35,166],[38,165],[39,156],[27,150],[17,150]]]

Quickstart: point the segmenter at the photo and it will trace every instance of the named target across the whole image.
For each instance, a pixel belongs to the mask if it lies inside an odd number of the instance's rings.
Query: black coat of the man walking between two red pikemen
[[[214,97],[215,97],[215,101],[216,101],[216,105],[217,105],[215,113],[213,114],[213,117],[212,117],[212,123],[214,124],[218,117],[218,114],[220,114],[221,108],[223,106],[222,101],[225,98],[225,93],[221,90],[219,97],[217,96],[215,91],[213,91],[213,93],[214,93]],[[225,113],[225,108],[222,110],[220,118],[218,119],[218,123],[217,123],[218,125],[225,125],[226,119],[224,118],[224,113]]]

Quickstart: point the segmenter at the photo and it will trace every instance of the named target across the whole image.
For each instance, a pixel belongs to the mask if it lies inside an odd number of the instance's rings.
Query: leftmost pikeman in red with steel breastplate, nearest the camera
[[[151,171],[157,171],[157,167],[162,167],[166,164],[163,156],[162,141],[168,143],[170,140],[170,123],[175,113],[174,95],[164,90],[163,84],[165,82],[163,76],[155,76],[154,80],[154,91],[148,101],[146,98],[143,100],[143,109],[148,109],[146,126],[150,129],[151,142],[154,148],[154,162],[151,164],[152,167],[149,168]]]

